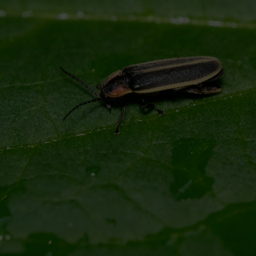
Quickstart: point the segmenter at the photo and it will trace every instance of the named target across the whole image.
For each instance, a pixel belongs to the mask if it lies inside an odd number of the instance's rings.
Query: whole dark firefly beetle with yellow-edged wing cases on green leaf
[[[194,94],[221,92],[220,87],[209,86],[205,83],[218,79],[223,74],[221,61],[214,57],[196,56],[155,60],[130,65],[122,70],[115,71],[99,86],[100,93],[98,93],[80,78],[70,74],[62,67],[60,69],[79,83],[85,85],[87,89],[98,97],[80,103],[71,109],[63,120],[75,109],[94,101],[102,100],[106,103],[107,108],[111,109],[110,99],[123,97],[129,93],[143,95],[165,90],[185,90]],[[164,111],[158,109],[155,105],[146,104],[142,98],[141,108],[154,108],[159,115],[164,114]],[[125,105],[123,104],[114,134],[119,134],[119,126],[124,113]]]

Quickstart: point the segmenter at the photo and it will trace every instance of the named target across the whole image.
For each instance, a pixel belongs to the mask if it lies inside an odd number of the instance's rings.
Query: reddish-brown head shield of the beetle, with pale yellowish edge
[[[100,89],[102,98],[117,98],[132,92],[129,84],[125,81],[121,70],[108,76],[100,86]]]

